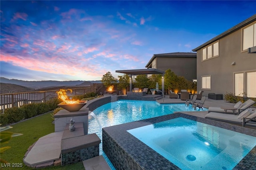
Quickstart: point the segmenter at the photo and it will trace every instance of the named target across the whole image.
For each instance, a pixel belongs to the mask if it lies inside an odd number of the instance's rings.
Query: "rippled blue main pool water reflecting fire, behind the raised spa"
[[[159,104],[156,101],[118,100],[96,108],[93,113],[96,115],[103,128],[172,114],[174,111],[207,111],[207,109],[202,110],[197,108],[194,110],[191,105],[186,106],[184,103]],[[88,134],[96,133],[102,140],[102,129],[100,129],[98,121],[91,115],[88,118]],[[114,169],[102,151],[102,143],[100,143],[100,155],[103,155],[110,165],[110,168]]]

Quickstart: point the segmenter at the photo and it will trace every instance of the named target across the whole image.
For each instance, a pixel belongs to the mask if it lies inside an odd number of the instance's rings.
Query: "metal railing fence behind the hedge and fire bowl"
[[[67,96],[86,94],[92,92],[92,88],[92,86],[88,86],[85,88],[71,89],[72,93],[68,90]],[[20,107],[24,104],[47,102],[58,97],[57,91],[58,90],[0,94],[0,110],[4,111],[4,109],[14,106]]]

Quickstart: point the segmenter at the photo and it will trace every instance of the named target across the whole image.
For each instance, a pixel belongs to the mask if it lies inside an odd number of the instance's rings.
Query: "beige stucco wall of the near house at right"
[[[208,93],[234,93],[234,72],[256,70],[256,53],[241,52],[241,29],[219,40],[219,57],[202,61],[202,49],[197,51],[197,90]],[[231,63],[235,61],[235,65]],[[201,76],[211,75],[211,90],[201,88]]]

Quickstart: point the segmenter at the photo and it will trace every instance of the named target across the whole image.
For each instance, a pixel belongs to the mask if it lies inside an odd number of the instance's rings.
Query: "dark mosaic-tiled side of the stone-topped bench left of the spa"
[[[61,165],[65,166],[68,164],[74,164],[83,160],[93,158],[100,155],[100,147],[92,146],[86,149],[76,150],[74,152],[68,152],[61,154]]]

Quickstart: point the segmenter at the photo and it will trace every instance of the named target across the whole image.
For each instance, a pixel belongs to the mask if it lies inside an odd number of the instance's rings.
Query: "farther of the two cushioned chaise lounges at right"
[[[234,106],[234,108],[237,108],[237,110],[232,111],[232,110],[226,110],[226,113],[240,113],[240,111],[247,109],[248,107],[252,106],[255,102],[251,99],[246,100],[246,102],[237,102]],[[208,113],[209,112],[218,112],[218,113],[225,113],[224,109],[221,109],[220,107],[209,107],[208,108]]]

